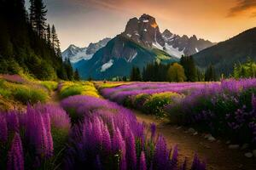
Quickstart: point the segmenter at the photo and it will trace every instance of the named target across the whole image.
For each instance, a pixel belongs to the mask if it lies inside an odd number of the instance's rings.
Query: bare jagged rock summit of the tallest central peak
[[[151,48],[154,43],[159,43],[161,46],[165,45],[159,26],[154,17],[148,14],[143,14],[139,20],[137,18],[129,20],[122,36],[148,48]]]

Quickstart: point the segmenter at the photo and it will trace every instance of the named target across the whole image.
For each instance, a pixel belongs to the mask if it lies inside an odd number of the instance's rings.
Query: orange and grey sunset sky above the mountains
[[[27,0],[28,1],[28,0]],[[169,29],[224,41],[256,24],[256,0],[44,0],[48,22],[55,24],[61,49],[85,47],[124,31],[141,14],[156,18],[160,31]]]

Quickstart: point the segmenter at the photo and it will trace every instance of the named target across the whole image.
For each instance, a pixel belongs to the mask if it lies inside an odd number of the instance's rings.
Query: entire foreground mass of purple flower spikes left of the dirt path
[[[206,169],[196,154],[192,165],[178,157],[154,124],[86,94],[1,112],[0,129],[0,169]]]

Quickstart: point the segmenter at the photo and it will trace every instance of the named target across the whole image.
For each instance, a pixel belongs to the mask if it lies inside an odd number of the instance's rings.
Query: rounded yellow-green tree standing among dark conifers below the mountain
[[[170,65],[167,72],[167,81],[169,82],[184,82],[186,76],[182,65],[174,63]]]

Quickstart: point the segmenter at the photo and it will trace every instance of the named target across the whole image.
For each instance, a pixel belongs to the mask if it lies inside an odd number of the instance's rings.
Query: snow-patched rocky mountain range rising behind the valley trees
[[[92,43],[91,43],[92,44]],[[172,63],[182,55],[195,54],[214,43],[197,37],[173,34],[160,28],[154,17],[143,14],[132,18],[125,31],[113,37],[78,48],[71,45],[62,53],[62,59],[70,59],[82,78],[109,79],[129,76],[132,66],[143,66],[157,61]],[[94,50],[89,50],[93,46]]]

